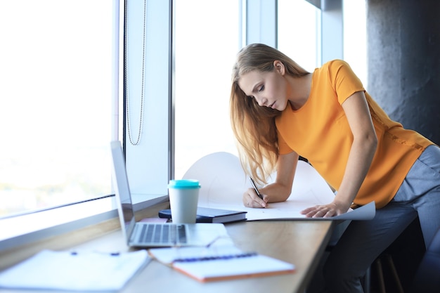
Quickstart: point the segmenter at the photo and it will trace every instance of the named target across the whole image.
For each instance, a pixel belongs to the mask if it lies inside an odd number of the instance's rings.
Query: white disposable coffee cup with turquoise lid
[[[169,205],[173,223],[195,223],[199,190],[200,183],[198,180],[169,181]]]

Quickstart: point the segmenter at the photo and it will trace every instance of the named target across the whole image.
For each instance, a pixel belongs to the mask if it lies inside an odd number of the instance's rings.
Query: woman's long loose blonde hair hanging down
[[[238,86],[238,81],[248,72],[271,72],[273,62],[280,60],[286,74],[302,77],[309,74],[295,61],[264,44],[250,44],[238,53],[233,66],[231,87],[231,126],[235,135],[240,162],[247,174],[258,183],[267,183],[276,169],[278,160],[278,134],[275,119],[280,111],[258,105],[254,98]]]

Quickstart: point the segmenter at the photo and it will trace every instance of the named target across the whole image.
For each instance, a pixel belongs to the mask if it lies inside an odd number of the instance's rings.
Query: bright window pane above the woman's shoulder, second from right
[[[321,11],[305,0],[278,0],[278,49],[312,72],[320,66]]]

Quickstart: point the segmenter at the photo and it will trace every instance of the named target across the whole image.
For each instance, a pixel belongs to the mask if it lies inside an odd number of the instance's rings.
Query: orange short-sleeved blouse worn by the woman
[[[333,60],[317,68],[302,108],[287,106],[277,117],[279,153],[295,150],[338,190],[353,143],[342,103],[356,91],[365,92],[378,144],[354,204],[374,200],[381,208],[392,200],[415,160],[433,143],[392,121],[344,61]]]

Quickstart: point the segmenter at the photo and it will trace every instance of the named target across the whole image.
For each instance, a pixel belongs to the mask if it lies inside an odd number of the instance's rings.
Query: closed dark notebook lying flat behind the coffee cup
[[[228,209],[210,209],[207,207],[197,208],[197,223],[229,223],[245,221],[247,211],[231,211]],[[171,219],[171,209],[159,211],[159,217]]]

